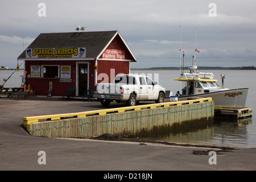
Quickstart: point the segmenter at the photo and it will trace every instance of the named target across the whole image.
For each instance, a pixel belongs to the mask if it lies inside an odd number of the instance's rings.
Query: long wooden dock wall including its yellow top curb
[[[35,137],[90,138],[102,134],[137,135],[155,127],[184,127],[213,122],[214,101],[201,98],[85,111],[80,113],[23,117],[23,126]],[[185,126],[186,125],[186,126]]]

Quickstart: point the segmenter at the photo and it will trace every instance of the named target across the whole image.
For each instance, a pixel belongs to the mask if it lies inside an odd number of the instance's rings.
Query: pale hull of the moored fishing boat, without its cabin
[[[191,96],[181,96],[179,97],[179,100],[184,101],[192,97],[212,97],[214,105],[216,106],[245,107],[248,89],[249,88],[227,89],[210,93],[195,94]]]

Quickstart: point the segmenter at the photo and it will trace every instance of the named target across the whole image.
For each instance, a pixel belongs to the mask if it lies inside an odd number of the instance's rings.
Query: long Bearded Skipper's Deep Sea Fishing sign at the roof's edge
[[[26,58],[85,58],[86,49],[83,48],[44,48],[26,49]]]

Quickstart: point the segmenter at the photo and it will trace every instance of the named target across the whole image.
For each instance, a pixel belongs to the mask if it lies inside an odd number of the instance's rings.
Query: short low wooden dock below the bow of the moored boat
[[[214,106],[214,117],[216,118],[244,118],[251,117],[253,109],[251,107],[237,106]]]

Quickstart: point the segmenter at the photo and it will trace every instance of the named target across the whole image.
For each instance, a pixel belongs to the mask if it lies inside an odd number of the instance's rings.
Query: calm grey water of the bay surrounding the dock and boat
[[[13,72],[0,70],[0,78],[8,78]],[[256,147],[256,115],[254,111],[256,108],[256,98],[254,96],[256,92],[256,71],[207,70],[201,72],[213,72],[214,79],[218,80],[218,85],[220,86],[220,75],[225,74],[225,87],[249,87],[246,106],[253,107],[253,117],[240,120],[214,119],[214,124],[210,126],[164,133],[152,136],[152,138],[168,142],[188,142],[242,148]],[[181,90],[181,82],[174,80],[179,76],[179,71],[131,71],[131,73],[144,73],[173,93]],[[20,86],[20,75],[23,75],[23,71],[14,72],[14,75],[10,77],[5,86]]]

